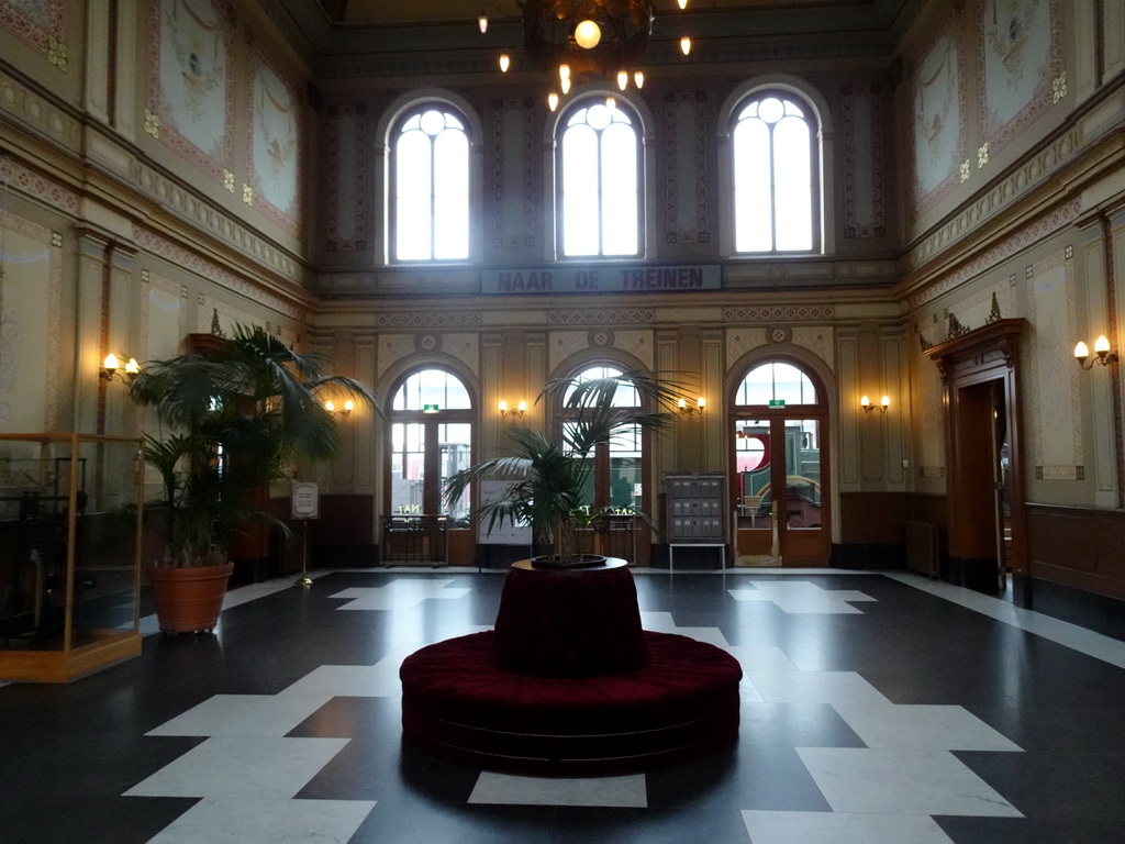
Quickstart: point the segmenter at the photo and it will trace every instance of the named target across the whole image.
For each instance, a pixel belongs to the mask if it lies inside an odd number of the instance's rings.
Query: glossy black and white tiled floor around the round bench
[[[398,665],[487,629],[503,575],[318,573],[231,593],[215,636],[0,688],[0,842],[1125,841],[1125,643],[909,575],[636,578],[647,629],[741,662],[737,746],[598,780],[434,760]]]

